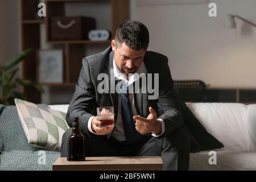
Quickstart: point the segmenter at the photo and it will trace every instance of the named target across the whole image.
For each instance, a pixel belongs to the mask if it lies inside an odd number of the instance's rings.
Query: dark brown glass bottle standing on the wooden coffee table
[[[79,118],[73,118],[72,134],[68,138],[68,161],[85,160],[84,156],[84,135],[79,127]]]

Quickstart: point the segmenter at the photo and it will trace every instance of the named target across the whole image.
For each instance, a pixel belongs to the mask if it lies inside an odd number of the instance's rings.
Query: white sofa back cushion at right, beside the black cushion
[[[188,103],[195,117],[225,150],[255,151],[246,126],[247,106],[238,103]]]

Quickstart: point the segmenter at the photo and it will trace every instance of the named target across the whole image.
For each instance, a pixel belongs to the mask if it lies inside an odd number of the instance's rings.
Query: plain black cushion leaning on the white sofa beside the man
[[[184,125],[192,134],[193,138],[195,138],[196,142],[199,143],[200,151],[224,147],[221,142],[208,133],[184,102],[181,102],[181,109]]]

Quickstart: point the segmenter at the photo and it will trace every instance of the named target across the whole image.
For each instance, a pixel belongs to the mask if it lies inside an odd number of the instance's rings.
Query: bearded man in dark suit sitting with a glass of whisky
[[[118,27],[111,47],[85,57],[68,108],[67,122],[72,127],[73,117],[80,118],[86,138],[86,156],[162,156],[164,170],[187,170],[190,140],[181,128],[183,117],[174,93],[168,59],[160,53],[146,51],[148,43],[146,26],[126,20]],[[140,81],[133,73],[159,74],[159,80],[154,83],[156,87],[159,84],[158,98],[150,100],[148,90],[137,93],[129,89],[125,94],[112,93],[108,88],[109,92],[99,93],[101,80],[98,75],[101,73],[109,77],[114,75],[115,84],[122,81],[121,90]],[[140,84],[139,90],[144,86]],[[114,106],[114,127],[99,127],[98,106]],[[67,156],[69,135],[71,129],[63,135],[61,156]]]

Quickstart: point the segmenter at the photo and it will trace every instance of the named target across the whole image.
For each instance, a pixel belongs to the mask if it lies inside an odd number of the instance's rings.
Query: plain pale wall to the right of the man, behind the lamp
[[[152,0],[151,0],[152,1]],[[155,0],[157,2],[157,0]],[[256,88],[256,27],[228,14],[256,22],[255,0],[216,0],[217,17],[208,4],[140,5],[131,0],[131,19],[150,31],[152,51],[168,56],[174,80],[200,79],[212,87]]]

